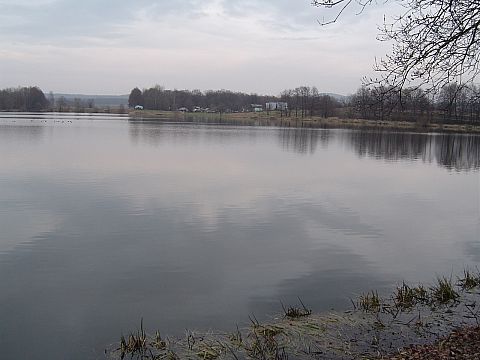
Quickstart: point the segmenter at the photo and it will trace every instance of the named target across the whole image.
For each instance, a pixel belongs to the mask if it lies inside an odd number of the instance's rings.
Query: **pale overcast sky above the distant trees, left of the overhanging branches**
[[[322,27],[334,14],[311,0],[0,0],[0,88],[350,94],[391,47],[376,35],[392,6]]]

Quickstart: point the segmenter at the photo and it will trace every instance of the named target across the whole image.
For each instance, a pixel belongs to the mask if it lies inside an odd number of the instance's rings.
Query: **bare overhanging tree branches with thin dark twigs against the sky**
[[[479,74],[480,0],[392,0],[405,11],[381,27],[380,40],[393,50],[375,65],[380,83],[390,89],[407,85],[438,90],[450,82],[471,82]],[[328,24],[357,4],[363,10],[373,0],[314,0],[317,7],[338,8]]]

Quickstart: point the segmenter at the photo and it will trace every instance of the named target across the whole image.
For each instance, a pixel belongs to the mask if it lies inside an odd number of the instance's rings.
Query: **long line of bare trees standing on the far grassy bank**
[[[383,85],[362,86],[353,95],[338,99],[320,93],[316,87],[299,86],[278,96],[245,94],[228,90],[167,90],[161,86],[135,88],[129,106],[141,105],[150,110],[208,109],[212,112],[252,111],[252,105],[285,102],[278,111],[286,117],[343,117],[378,121],[413,121],[419,125],[437,123],[480,123],[480,86],[449,83],[437,93],[419,87],[389,88]]]

